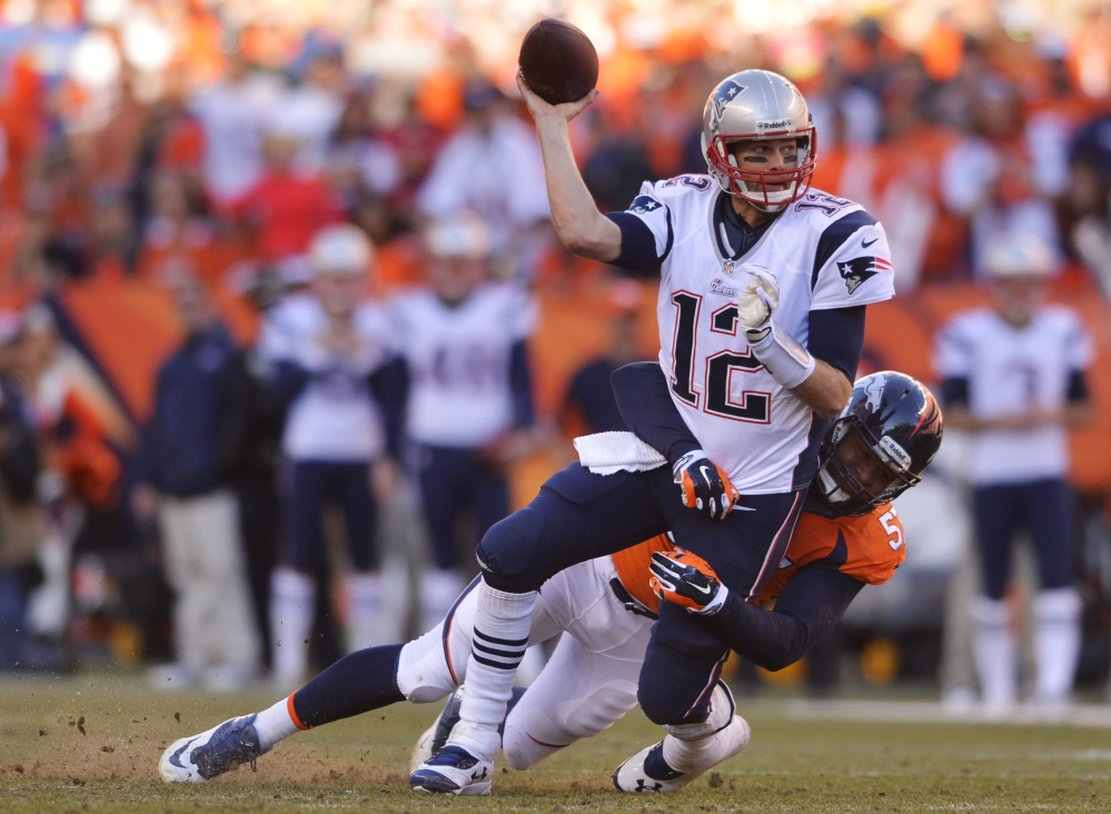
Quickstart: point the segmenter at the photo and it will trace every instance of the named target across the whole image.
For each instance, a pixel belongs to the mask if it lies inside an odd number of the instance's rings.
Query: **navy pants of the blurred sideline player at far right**
[[[1033,540],[1042,587],[1072,585],[1071,504],[1069,485],[1060,478],[972,490],[984,592],[990,598],[1003,598],[1011,576],[1011,546],[1021,527]]]

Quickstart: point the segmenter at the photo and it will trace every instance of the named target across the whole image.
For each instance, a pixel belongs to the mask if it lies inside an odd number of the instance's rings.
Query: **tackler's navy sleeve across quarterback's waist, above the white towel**
[[[675,409],[667,377],[655,361],[634,361],[609,377],[617,409],[636,437],[673,465],[702,445]]]

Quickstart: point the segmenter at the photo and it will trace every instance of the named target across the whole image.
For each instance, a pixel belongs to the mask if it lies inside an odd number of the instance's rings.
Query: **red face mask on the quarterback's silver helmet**
[[[815,130],[805,127],[777,138],[718,133],[710,142],[706,160],[728,180],[733,195],[761,211],[775,212],[810,189],[815,155]]]

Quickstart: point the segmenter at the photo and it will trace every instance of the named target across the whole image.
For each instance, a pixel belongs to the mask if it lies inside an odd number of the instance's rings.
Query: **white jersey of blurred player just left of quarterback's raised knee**
[[[536,324],[536,306],[519,286],[487,284],[454,307],[431,291],[399,295],[391,324],[409,368],[411,440],[473,448],[513,426],[509,355]]]

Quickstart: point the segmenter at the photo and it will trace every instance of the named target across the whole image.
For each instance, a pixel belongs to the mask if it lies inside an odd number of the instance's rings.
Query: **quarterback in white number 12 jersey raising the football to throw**
[[[882,227],[852,201],[810,189],[817,136],[785,78],[750,70],[722,81],[703,120],[708,175],[645,183],[628,211],[609,216],[583,182],[567,129],[596,91],[552,106],[519,77],[518,87],[561,241],[583,257],[658,270],[659,365],[697,445],[659,450],[674,483],[658,470],[599,476],[572,465],[487,533],[460,721],[448,747],[409,778],[433,792],[466,793],[475,766],[493,768],[536,590],[559,569],[668,530],[730,590],[760,595],[797,522],[827,421],[852,389],[865,306],[893,295]],[[697,619],[662,608],[638,686],[647,717],[705,721],[721,666],[708,655],[720,652]]]

